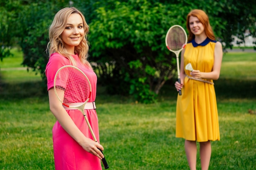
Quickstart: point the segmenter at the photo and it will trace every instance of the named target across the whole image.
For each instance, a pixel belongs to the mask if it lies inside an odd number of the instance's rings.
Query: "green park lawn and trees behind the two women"
[[[255,4],[246,0],[0,3],[4,7],[0,9],[1,169],[54,169],[56,120],[45,88],[45,49],[54,14],[70,5],[81,9],[90,25],[89,60],[99,77],[97,113],[110,169],[189,169],[184,140],[175,138],[176,63],[164,38],[173,24],[185,28],[186,14],[195,8],[209,14],[225,51],[220,79],[215,81],[221,141],[212,143],[209,169],[256,168],[256,53],[253,47],[241,46],[247,35],[255,37]]]

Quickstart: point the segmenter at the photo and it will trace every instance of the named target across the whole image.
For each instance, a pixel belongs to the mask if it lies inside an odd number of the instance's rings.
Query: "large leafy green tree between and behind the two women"
[[[239,8],[235,7],[238,2]],[[209,15],[217,40],[231,47],[231,35],[234,33],[243,39],[245,29],[250,27],[255,36],[255,24],[251,27],[255,22],[255,15],[252,17],[255,11],[247,13],[243,3],[227,3],[225,0],[198,0],[193,3],[183,0],[128,0],[113,2],[111,7],[99,7],[90,24],[89,40],[101,80],[110,92],[125,94],[129,91],[140,102],[152,101],[166,80],[175,77],[174,56],[164,44],[168,28],[173,24],[185,27],[187,13],[191,9],[203,9]],[[231,15],[233,11],[235,15]],[[244,27],[234,26],[239,23]],[[117,84],[118,90],[111,91],[111,87]]]

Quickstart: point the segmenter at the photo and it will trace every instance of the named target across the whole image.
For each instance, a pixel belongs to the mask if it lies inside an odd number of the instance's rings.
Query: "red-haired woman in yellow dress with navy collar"
[[[185,139],[186,157],[190,170],[196,169],[197,146],[200,144],[202,170],[208,170],[211,141],[220,140],[218,110],[213,80],[220,76],[222,45],[215,40],[207,14],[192,10],[187,15],[188,44],[182,51],[180,82],[177,91],[176,137]],[[191,64],[193,70],[186,70]]]

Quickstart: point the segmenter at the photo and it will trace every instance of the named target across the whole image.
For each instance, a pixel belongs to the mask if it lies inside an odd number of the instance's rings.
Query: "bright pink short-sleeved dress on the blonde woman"
[[[92,85],[92,95],[88,102],[94,102],[96,98],[97,75],[88,66],[82,65],[78,55],[73,55],[76,60],[77,67],[80,68],[90,80]],[[53,88],[54,76],[59,68],[65,65],[71,65],[70,61],[58,54],[53,53],[46,66],[45,74],[47,77],[47,89]],[[83,134],[92,139],[88,125],[79,110],[67,110],[76,126]],[[85,110],[95,137],[99,142],[99,126],[96,110]],[[54,148],[54,163],[56,170],[102,170],[101,160],[86,152],[56,121],[52,129],[53,148]]]

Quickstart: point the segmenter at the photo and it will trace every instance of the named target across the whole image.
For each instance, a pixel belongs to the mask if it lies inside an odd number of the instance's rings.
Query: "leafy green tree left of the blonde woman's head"
[[[13,15],[11,15],[12,12],[9,12],[11,16],[7,22],[8,28],[13,30],[9,30],[7,35],[16,38],[16,42],[12,42],[12,44],[17,43],[21,47],[22,64],[28,69],[40,73],[45,82],[44,72],[49,58],[45,52],[49,41],[48,28],[54,14],[63,6],[68,6],[69,1],[15,0],[13,2],[5,4],[5,9],[13,11]],[[7,35],[4,38],[8,39]]]

